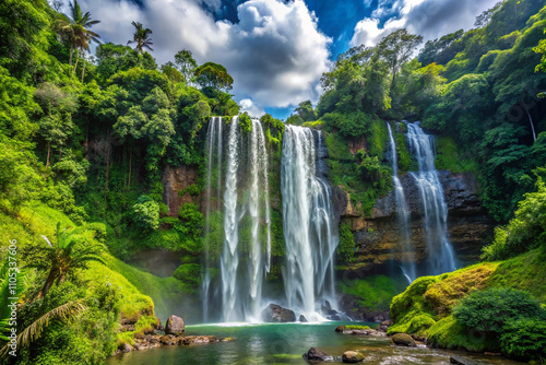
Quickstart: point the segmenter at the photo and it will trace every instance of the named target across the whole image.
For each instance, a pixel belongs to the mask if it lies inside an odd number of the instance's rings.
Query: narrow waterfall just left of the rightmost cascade
[[[396,216],[399,220],[399,228],[402,236],[402,273],[407,279],[408,283],[417,278],[415,269],[415,257],[412,246],[412,236],[410,232],[410,209],[406,203],[404,196],[404,188],[399,179],[399,158],[396,155],[396,142],[392,134],[391,125],[387,122],[387,128],[389,129],[389,141],[391,148],[391,161],[392,161],[392,182],[394,185],[394,201],[396,204]]]

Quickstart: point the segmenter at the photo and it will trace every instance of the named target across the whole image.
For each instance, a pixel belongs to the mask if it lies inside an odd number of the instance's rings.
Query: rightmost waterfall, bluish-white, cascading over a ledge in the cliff
[[[448,205],[435,165],[435,139],[423,131],[419,122],[407,125],[407,139],[419,167],[417,173],[411,175],[419,188],[425,212],[428,273],[454,271],[455,258],[447,233]]]

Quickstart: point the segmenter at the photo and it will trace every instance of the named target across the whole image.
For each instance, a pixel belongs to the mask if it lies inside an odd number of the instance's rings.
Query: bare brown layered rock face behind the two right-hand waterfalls
[[[482,247],[488,244],[494,229],[494,223],[482,205],[478,184],[467,173],[439,172],[439,176],[448,204],[449,239],[460,261],[475,261]],[[425,212],[413,177],[405,174],[400,179],[411,211],[410,229],[418,263],[427,255]],[[376,202],[369,217],[363,216],[352,207],[349,197],[341,188],[334,188],[334,204],[342,223],[348,224],[354,233],[358,263],[366,263],[371,268],[393,258],[401,259],[397,243],[402,238],[393,191]]]

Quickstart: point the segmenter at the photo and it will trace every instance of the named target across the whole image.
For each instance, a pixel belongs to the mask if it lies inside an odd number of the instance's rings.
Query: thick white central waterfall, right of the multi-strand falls
[[[287,306],[308,319],[320,318],[317,301],[334,299],[333,266],[339,244],[330,188],[317,172],[317,151],[322,143],[318,134],[316,139],[309,128],[286,126],[281,166]]]

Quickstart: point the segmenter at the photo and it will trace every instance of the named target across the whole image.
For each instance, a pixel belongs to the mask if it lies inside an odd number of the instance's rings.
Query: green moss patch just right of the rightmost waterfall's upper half
[[[436,138],[436,168],[453,173],[478,172],[477,162],[467,154],[462,154],[453,138],[448,136]]]

